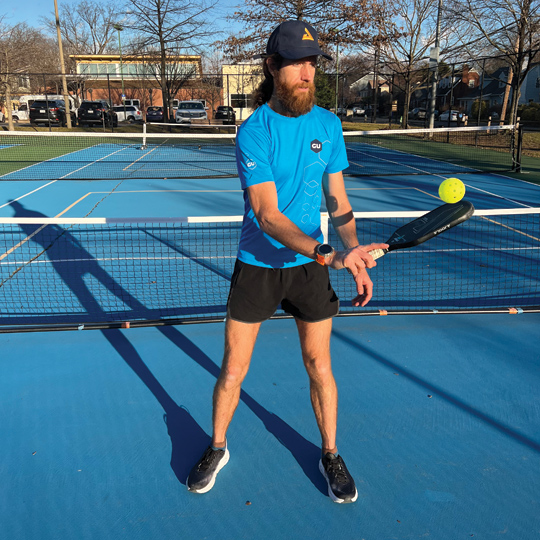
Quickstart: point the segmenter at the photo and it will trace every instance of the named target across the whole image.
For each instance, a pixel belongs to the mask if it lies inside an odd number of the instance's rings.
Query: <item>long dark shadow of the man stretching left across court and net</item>
[[[12,201],[10,204],[15,210],[15,216],[46,217],[40,212],[26,209],[17,201]],[[58,276],[72,292],[74,299],[83,308],[84,313],[94,315],[96,320],[108,320],[107,313],[88,288],[85,279],[89,276],[98,280],[110,294],[116,296],[129,309],[143,316],[144,313],[148,313],[146,307],[115,281],[68,229],[58,225],[48,225],[47,234],[45,234],[41,232],[41,229],[36,228],[36,225],[20,224],[19,226],[28,239],[41,245],[42,252],[39,256],[46,255]],[[66,259],[76,262],[68,265],[65,264]],[[218,365],[179,330],[172,326],[157,328],[208,373],[215,378],[219,376]],[[119,329],[101,330],[101,332],[162,406],[163,419],[171,439],[171,468],[178,480],[185,484],[191,467],[209,444],[210,436],[199,426],[186,407],[178,405],[170,397],[124,332]],[[241,392],[241,400],[263,422],[268,432],[291,453],[313,485],[326,494],[326,483],[318,471],[320,449],[302,437],[279,416],[266,410],[244,390]]]

